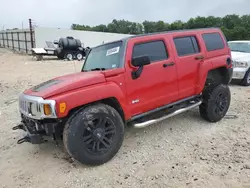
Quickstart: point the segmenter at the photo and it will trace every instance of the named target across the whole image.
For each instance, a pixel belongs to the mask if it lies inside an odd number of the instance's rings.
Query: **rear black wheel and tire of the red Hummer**
[[[199,106],[200,115],[209,122],[218,122],[226,115],[231,103],[231,92],[227,85],[211,84],[203,92]]]

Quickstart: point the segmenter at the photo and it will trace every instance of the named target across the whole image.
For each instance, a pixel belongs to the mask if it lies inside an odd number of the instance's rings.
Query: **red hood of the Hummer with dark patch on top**
[[[101,72],[79,72],[48,80],[24,91],[24,93],[46,99],[67,91],[103,83],[105,81],[106,79]]]

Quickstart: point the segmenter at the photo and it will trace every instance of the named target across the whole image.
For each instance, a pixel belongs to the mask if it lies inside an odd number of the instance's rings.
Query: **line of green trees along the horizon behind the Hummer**
[[[173,23],[164,21],[144,21],[142,23],[131,22],[128,20],[116,20],[105,25],[88,26],[72,24],[73,30],[98,31],[123,34],[142,34],[181,29],[196,29],[219,27],[222,29],[228,40],[250,40],[250,14],[239,16],[236,14],[226,15],[224,17],[201,17],[190,18],[187,22],[177,20]]]

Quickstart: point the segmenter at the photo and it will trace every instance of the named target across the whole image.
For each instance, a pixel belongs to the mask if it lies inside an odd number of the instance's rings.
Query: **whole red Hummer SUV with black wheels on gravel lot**
[[[79,73],[25,90],[13,129],[27,132],[19,144],[62,138],[73,159],[101,165],[119,151],[127,124],[156,126],[195,107],[206,121],[220,121],[231,78],[231,51],[218,28],[132,36],[92,48]]]

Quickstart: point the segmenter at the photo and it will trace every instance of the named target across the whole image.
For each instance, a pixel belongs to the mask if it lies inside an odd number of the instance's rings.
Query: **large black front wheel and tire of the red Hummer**
[[[106,123],[103,124],[103,121]],[[95,125],[98,122],[99,126]],[[63,143],[68,154],[80,163],[91,166],[111,160],[119,151],[123,139],[124,123],[121,116],[105,104],[90,105],[79,110],[68,120],[63,131]],[[97,146],[102,150],[97,151]]]

